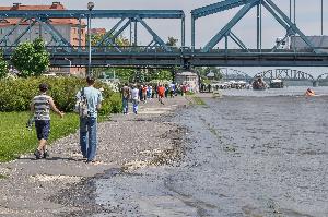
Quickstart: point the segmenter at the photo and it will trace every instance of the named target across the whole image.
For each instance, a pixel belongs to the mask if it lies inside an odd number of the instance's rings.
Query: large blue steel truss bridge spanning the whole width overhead
[[[202,48],[196,48],[196,21],[214,13],[225,12],[237,8],[235,15],[221,28],[213,38]],[[235,33],[234,26],[253,9],[257,11],[257,46],[247,47]],[[266,9],[276,21],[285,29],[284,39],[291,36],[300,37],[307,46],[304,50],[280,49],[280,43],[273,48],[261,46],[261,13]],[[65,10],[65,11],[0,11],[0,21],[19,19],[13,28],[0,38],[0,48],[4,57],[10,58],[13,49],[19,45],[31,28],[38,25],[51,35],[55,46],[47,46],[51,57],[52,67],[89,64],[89,48],[81,44],[81,27],[83,21],[93,19],[118,19],[119,21],[103,36],[96,46],[91,47],[92,67],[153,67],[172,68],[183,67],[328,67],[327,49],[314,47],[309,39],[302,33],[288,15],[285,15],[272,0],[225,0],[191,11],[191,47],[186,47],[185,13],[181,10]],[[61,33],[51,24],[51,19],[77,19],[79,25],[79,46],[72,46]],[[169,47],[148,25],[148,20],[179,20],[180,45]],[[23,25],[28,23],[28,25]],[[91,22],[87,22],[91,23]],[[213,22],[214,25],[215,22]],[[9,40],[14,31],[25,26],[14,41]],[[136,46],[139,27],[143,27],[152,40],[147,45]],[[215,26],[213,26],[215,27]],[[129,45],[119,46],[116,39],[128,29],[130,33]],[[172,29],[169,29],[172,31]],[[133,36],[133,37],[132,37]],[[40,35],[42,37],[42,35]],[[229,40],[235,43],[238,49],[231,49]],[[215,46],[224,41],[223,49]]]

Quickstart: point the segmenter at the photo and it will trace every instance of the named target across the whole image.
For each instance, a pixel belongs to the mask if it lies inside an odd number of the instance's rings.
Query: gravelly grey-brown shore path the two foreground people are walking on
[[[93,203],[89,180],[105,171],[133,170],[179,157],[186,131],[169,119],[188,104],[180,96],[164,106],[153,99],[140,105],[138,116],[115,114],[101,123],[98,165],[82,161],[79,132],[54,143],[49,159],[35,160],[30,154],[0,164],[4,177],[0,179],[0,216],[89,216],[102,210]]]

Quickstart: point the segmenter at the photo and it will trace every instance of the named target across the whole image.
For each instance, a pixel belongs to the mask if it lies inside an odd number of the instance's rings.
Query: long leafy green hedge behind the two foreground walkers
[[[32,98],[38,94],[38,85],[47,83],[56,106],[66,112],[73,110],[75,94],[85,86],[85,80],[79,77],[30,77],[17,80],[3,80],[0,82],[0,111],[26,111],[30,109]],[[121,103],[109,86],[96,82],[95,87],[103,87],[103,108],[101,114],[119,112]]]

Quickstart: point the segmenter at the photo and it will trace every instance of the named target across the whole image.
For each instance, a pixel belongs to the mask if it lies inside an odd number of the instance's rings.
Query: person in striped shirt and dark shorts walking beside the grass
[[[38,140],[38,147],[34,153],[36,159],[49,157],[47,140],[50,133],[50,109],[58,113],[60,118],[63,117],[63,112],[57,109],[52,97],[47,95],[48,85],[42,83],[38,86],[38,89],[39,95],[35,96],[30,105],[31,116],[33,116],[35,120],[36,135]]]

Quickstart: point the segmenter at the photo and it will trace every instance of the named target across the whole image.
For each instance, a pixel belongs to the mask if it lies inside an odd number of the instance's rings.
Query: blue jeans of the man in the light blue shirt
[[[80,118],[80,145],[83,157],[87,161],[94,160],[97,149],[97,118]]]

